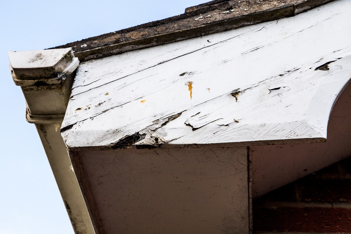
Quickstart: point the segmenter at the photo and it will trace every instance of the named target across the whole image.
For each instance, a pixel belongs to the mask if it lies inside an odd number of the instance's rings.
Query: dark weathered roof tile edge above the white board
[[[163,45],[290,17],[332,0],[214,0],[184,14],[54,47],[72,47],[80,61]]]

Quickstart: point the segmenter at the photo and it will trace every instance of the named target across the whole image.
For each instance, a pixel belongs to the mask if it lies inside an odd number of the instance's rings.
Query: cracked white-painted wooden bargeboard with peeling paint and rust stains
[[[350,1],[334,1],[84,62],[62,136],[70,150],[325,141],[333,103],[350,79],[350,10]],[[315,70],[327,62],[329,70]]]

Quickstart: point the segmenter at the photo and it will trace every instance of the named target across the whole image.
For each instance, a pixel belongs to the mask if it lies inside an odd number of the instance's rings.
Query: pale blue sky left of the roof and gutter
[[[7,52],[45,49],[184,13],[207,0],[2,1],[0,5],[0,234],[73,229]]]

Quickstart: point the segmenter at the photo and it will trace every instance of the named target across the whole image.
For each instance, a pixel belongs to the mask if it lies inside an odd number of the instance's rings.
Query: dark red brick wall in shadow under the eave
[[[351,158],[255,199],[253,232],[351,233]]]

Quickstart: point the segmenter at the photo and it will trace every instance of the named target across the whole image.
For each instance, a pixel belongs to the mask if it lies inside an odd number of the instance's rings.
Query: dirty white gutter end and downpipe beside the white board
[[[62,200],[76,234],[94,229],[67,148],[60,135],[75,72],[71,48],[8,53],[12,78],[27,103],[26,119],[35,123]],[[71,168],[71,169],[70,169]]]

